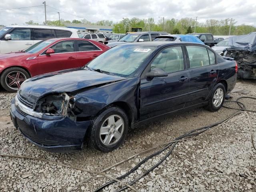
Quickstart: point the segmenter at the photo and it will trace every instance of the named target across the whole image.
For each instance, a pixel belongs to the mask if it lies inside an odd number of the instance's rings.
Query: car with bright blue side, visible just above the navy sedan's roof
[[[154,41],[184,41],[200,43],[204,45],[204,42],[193,35],[160,35],[157,36]]]

